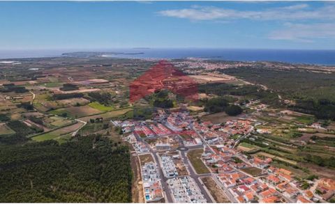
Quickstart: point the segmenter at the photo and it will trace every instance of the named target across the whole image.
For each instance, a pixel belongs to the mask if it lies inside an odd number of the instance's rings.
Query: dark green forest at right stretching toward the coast
[[[262,84],[273,91],[272,94],[295,100],[296,104],[290,105],[289,109],[313,114],[320,119],[335,120],[334,73],[274,68],[229,68],[220,72],[253,84]]]

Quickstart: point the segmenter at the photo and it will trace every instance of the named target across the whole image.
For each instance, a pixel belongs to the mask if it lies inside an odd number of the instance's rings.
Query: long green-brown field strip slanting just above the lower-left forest
[[[34,136],[34,141],[45,141],[49,139],[57,139],[60,136],[65,136],[66,134],[70,134],[71,132],[75,132],[78,128],[82,127],[82,123],[75,123],[73,125],[69,125],[67,127],[62,127],[58,130],[54,130],[52,132],[47,132],[45,134],[40,134],[38,136]]]

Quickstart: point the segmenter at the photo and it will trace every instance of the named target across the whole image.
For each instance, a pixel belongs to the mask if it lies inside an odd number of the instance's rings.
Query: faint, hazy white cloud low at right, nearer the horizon
[[[285,24],[285,28],[273,31],[269,35],[273,40],[294,40],[313,42],[313,39],[335,39],[335,23]]]

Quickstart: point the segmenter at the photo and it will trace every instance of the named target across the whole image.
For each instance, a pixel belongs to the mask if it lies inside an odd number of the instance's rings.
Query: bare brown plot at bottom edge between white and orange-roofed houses
[[[203,177],[201,178],[202,182],[204,182],[204,185],[211,193],[211,196],[213,196],[216,203],[230,203],[227,196],[225,196],[225,193],[219,187],[216,182],[211,177]]]

